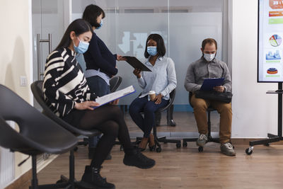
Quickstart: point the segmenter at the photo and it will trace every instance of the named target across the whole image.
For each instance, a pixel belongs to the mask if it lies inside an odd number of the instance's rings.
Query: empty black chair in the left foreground
[[[45,152],[63,154],[74,149],[78,142],[74,134],[47,118],[3,85],[0,85],[0,105],[0,145],[32,156],[33,178],[30,188],[71,187],[71,182],[38,185],[36,156]],[[7,124],[8,120],[18,124],[19,132]]]

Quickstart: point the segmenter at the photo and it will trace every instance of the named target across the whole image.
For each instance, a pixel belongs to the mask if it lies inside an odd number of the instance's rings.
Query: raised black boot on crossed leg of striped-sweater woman
[[[136,166],[138,168],[151,168],[155,165],[154,159],[149,159],[148,157],[141,154],[139,149],[133,149],[125,154],[123,163],[126,166]]]

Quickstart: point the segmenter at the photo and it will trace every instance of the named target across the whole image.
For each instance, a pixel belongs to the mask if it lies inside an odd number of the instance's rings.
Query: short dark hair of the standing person
[[[97,5],[90,4],[86,6],[86,9],[83,11],[83,20],[88,21],[91,26],[98,28],[100,23],[97,22],[98,16],[102,14],[102,18],[105,18],[105,13],[102,8]]]

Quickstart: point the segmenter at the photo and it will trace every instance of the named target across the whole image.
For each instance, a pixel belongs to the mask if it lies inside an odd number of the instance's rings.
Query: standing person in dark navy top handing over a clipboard
[[[100,40],[95,30],[103,25],[105,13],[102,8],[96,5],[88,5],[83,11],[83,20],[88,21],[93,29],[93,38],[89,42],[86,53],[83,54],[86,62],[86,81],[93,93],[97,96],[105,96],[110,93],[109,80],[117,74],[116,59],[125,60],[120,55],[113,55],[103,40]],[[98,137],[88,138],[88,156],[91,157],[95,151]],[[108,156],[111,159],[111,156]]]

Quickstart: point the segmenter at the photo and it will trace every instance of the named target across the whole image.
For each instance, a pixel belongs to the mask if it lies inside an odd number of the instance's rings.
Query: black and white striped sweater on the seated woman
[[[67,115],[75,102],[94,101],[96,96],[86,84],[86,77],[76,53],[69,48],[53,51],[46,60],[42,90],[50,109],[59,117]]]

